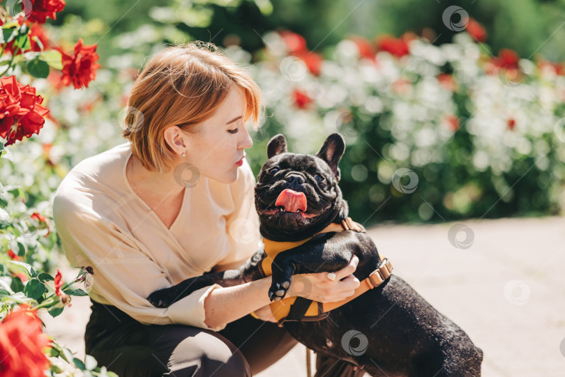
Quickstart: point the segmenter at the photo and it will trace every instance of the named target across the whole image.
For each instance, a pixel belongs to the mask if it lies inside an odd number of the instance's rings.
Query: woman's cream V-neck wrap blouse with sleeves
[[[92,266],[92,300],[146,325],[179,323],[209,328],[201,288],[168,308],[146,297],[210,270],[241,266],[259,247],[255,176],[244,159],[232,184],[200,177],[186,187],[178,217],[167,229],[126,178],[129,141],[86,158],[55,193],[53,217],[63,250],[75,267]]]

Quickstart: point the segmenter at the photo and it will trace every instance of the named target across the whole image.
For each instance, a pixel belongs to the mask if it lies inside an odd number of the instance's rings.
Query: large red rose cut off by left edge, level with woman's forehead
[[[0,84],[0,137],[6,139],[4,146],[38,134],[49,112],[40,105],[43,97],[36,95],[33,86],[17,82],[15,76],[1,78]]]

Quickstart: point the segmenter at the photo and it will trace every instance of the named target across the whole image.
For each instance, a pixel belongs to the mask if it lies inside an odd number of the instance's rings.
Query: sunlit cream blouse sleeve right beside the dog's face
[[[245,159],[240,176],[231,185],[230,191],[234,202],[234,211],[226,218],[230,252],[216,264],[216,271],[243,266],[263,246],[259,216],[255,210],[255,175]]]

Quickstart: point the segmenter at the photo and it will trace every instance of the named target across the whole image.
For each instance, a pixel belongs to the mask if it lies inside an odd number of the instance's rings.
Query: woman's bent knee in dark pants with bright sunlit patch
[[[168,366],[170,376],[251,376],[241,351],[216,332],[202,331],[183,339],[172,352]]]

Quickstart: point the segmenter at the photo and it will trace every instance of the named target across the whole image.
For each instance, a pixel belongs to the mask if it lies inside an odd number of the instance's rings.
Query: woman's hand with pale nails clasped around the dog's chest
[[[359,258],[354,255],[345,268],[335,272],[334,279],[331,279],[332,275],[328,275],[328,272],[294,275],[287,297],[302,296],[318,302],[345,300],[354,294],[355,288],[361,285],[359,279],[352,275],[357,264],[359,264]]]

